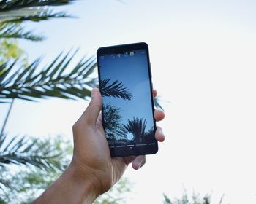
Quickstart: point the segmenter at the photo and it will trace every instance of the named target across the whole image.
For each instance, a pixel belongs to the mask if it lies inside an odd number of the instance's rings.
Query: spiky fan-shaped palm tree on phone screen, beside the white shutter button
[[[126,125],[123,125],[123,129],[121,130],[123,133],[132,133],[135,141],[142,142],[145,137],[146,130],[146,119],[138,119],[138,117],[133,117],[133,119],[128,119]]]

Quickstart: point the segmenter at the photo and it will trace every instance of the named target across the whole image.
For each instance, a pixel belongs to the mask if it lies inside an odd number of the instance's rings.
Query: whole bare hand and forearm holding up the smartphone
[[[157,91],[153,91],[154,97]],[[146,162],[145,156],[110,157],[108,142],[102,127],[102,97],[97,88],[91,92],[91,103],[73,125],[74,153],[67,170],[42,193],[34,204],[93,203],[108,191],[124,173],[130,162],[139,169]],[[164,119],[162,111],[154,111],[154,118]],[[162,129],[157,127],[157,141],[164,141]]]

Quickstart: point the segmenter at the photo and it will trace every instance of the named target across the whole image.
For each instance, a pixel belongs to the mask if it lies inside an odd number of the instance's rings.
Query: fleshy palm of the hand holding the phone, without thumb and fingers
[[[79,121],[79,120],[78,120]],[[74,131],[74,154],[72,164],[81,166],[77,172],[87,175],[101,187],[100,194],[108,191],[121,178],[127,168],[126,160],[122,157],[110,157],[108,142],[102,127],[101,114],[94,125],[80,124]],[[77,131],[76,131],[77,130]],[[88,169],[93,172],[89,175]]]

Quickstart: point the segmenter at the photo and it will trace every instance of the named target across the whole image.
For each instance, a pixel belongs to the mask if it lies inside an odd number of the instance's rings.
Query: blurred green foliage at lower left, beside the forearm
[[[67,168],[72,144],[63,136],[12,141],[0,142],[1,202],[30,203]]]

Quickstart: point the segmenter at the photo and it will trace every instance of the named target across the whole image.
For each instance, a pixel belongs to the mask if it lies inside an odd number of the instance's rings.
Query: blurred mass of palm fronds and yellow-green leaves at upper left
[[[39,22],[56,17],[70,17],[66,12],[54,12],[50,7],[71,2],[72,0],[0,1],[0,102],[14,98],[29,101],[46,97],[90,98],[91,87],[97,84],[97,79],[91,77],[96,67],[94,58],[81,58],[73,68],[70,64],[75,52],[57,55],[45,68],[39,67],[40,58],[30,64],[26,63],[26,66],[18,63],[18,60],[26,58],[22,58],[25,52],[18,47],[17,39],[44,39],[44,36],[35,35],[34,31],[26,31],[23,23],[28,20]]]

